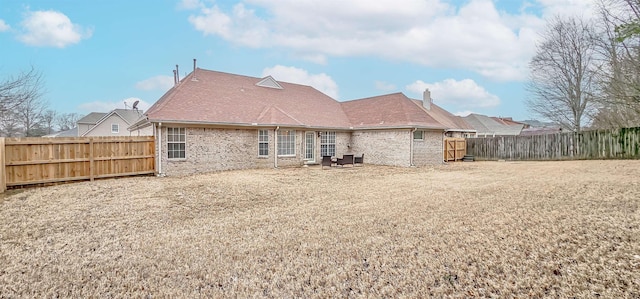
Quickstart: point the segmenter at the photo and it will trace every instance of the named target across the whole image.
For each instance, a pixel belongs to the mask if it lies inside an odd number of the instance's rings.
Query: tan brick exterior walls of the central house
[[[281,129],[282,130],[282,129]],[[185,175],[231,169],[270,168],[275,163],[274,129],[267,129],[269,155],[258,157],[258,129],[186,128],[185,159],[167,158],[167,128],[162,127],[162,173]],[[315,161],[320,156],[318,131],[296,130],[295,156],[278,157],[278,167],[301,166],[304,159],[305,133],[313,132]],[[442,134],[425,131],[423,141],[413,141],[411,130],[371,130],[336,132],[336,156],[365,154],[365,164],[410,166],[411,142],[414,164],[423,166],[442,162]]]

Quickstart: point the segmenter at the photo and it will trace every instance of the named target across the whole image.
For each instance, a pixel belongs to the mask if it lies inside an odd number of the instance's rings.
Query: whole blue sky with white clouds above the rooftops
[[[345,101],[429,88],[448,111],[531,119],[545,19],[591,0],[0,0],[0,80],[40,70],[44,99],[146,109],[198,67],[311,85]]]

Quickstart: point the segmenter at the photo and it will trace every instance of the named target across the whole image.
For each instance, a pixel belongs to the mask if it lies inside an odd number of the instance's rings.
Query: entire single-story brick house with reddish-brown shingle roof
[[[442,163],[447,132],[471,130],[429,92],[425,99],[395,93],[338,102],[271,76],[195,69],[130,129],[153,128],[162,174],[299,166],[344,154],[424,166]]]

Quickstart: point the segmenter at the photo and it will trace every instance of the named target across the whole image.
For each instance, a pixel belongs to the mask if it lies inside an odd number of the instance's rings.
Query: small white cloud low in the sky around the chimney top
[[[498,96],[489,93],[471,79],[445,79],[436,83],[417,80],[406,89],[422,96],[425,89],[431,91],[431,98],[438,104],[450,104],[460,108],[486,108],[500,104]]]

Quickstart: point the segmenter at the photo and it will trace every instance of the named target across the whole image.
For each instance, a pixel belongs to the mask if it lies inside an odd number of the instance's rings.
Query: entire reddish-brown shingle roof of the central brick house
[[[437,105],[402,93],[338,102],[311,86],[196,69],[129,129],[150,123],[333,129],[427,128],[473,131]]]

